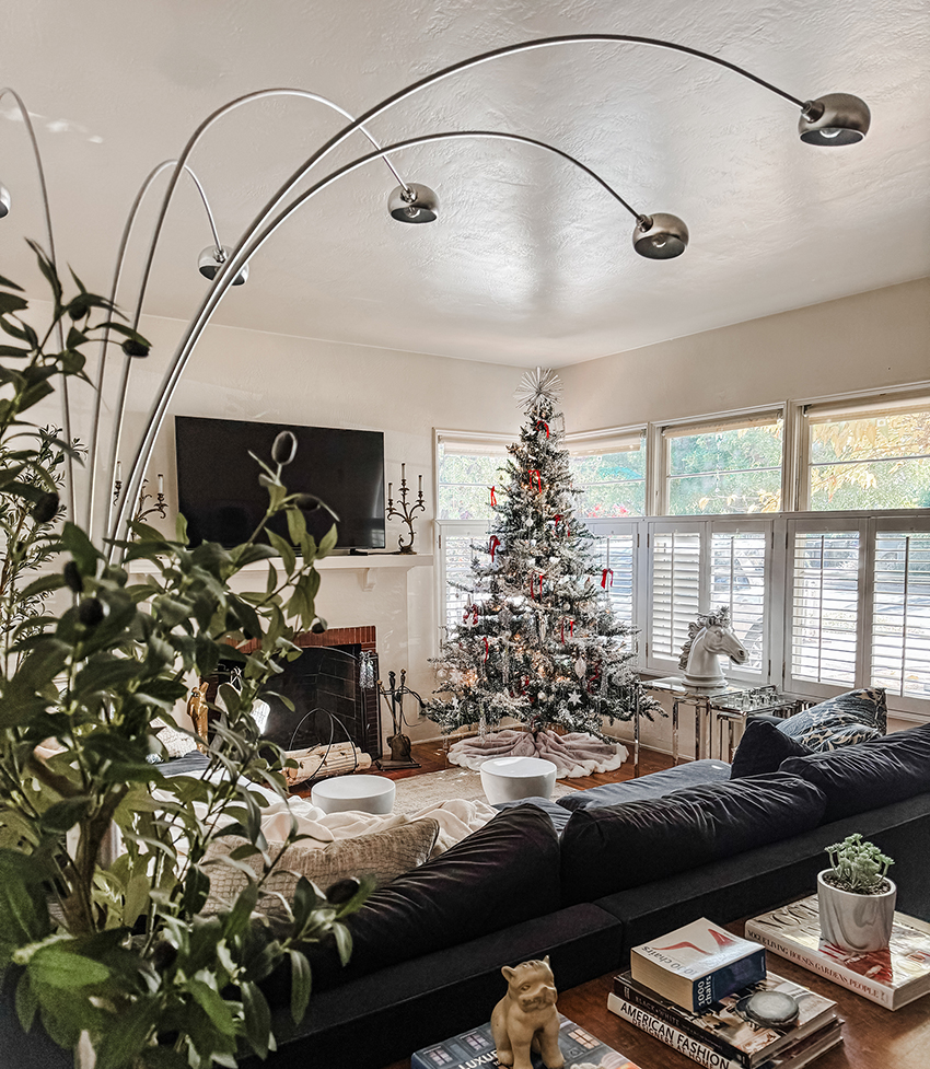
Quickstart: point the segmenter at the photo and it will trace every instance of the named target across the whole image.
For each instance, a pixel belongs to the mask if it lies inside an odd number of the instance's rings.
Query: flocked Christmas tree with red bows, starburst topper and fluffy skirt
[[[626,751],[604,739],[605,720],[630,719],[637,702],[650,717],[658,708],[632,670],[632,629],[611,609],[613,577],[574,515],[559,388],[559,376],[539,369],[521,382],[520,441],[491,491],[488,544],[473,547],[473,579],[460,586],[463,619],[435,662],[440,697],[429,716],[444,732],[479,727],[451,748],[456,764],[510,753],[549,757],[559,776],[606,771]],[[488,733],[507,717],[522,730]]]

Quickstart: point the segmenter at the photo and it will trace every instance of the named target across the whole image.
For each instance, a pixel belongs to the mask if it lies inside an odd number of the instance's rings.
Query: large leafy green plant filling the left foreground
[[[300,1020],[307,945],[332,940],[346,961],[344,920],[370,893],[369,883],[324,893],[301,879],[286,921],[272,928],[261,910],[269,874],[302,836],[294,823],[272,849],[261,833],[267,803],[255,785],[286,798],[287,783],[280,752],[249,713],[277,662],[297,655],[295,630],[325,627],[315,561],[336,531],[318,545],[307,534],[304,510],[319,502],[281,480],[297,448],[287,432],[268,462],[256,458],[267,512],[232,549],[190,546],[178,518],[173,538],[132,524],[114,563],[63,521],[59,462],[75,456],[74,444],[43,433],[30,409],[56,381],[88,382],[82,349],[102,330],[121,333],[127,356],[143,358],[148,344],[77,276],[66,297],[34,247],[51,288],[50,324],[38,329],[20,287],[0,278],[0,997],[21,1030],[3,1033],[4,1059],[44,1031],[79,1067],[234,1066],[274,1049],[263,980],[289,960]],[[290,538],[267,531],[276,515]],[[263,563],[259,590],[233,589],[243,568]],[[212,737],[188,732],[208,768],[163,776],[152,763],[164,756],[155,721],[183,701],[188,677],[209,676],[221,658],[239,661],[243,683],[221,685]],[[208,848],[221,836],[242,845],[218,863],[247,884],[213,908]],[[244,863],[256,855],[257,875]]]

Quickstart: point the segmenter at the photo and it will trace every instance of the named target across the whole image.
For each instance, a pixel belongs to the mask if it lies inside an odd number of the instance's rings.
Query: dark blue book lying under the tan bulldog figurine
[[[559,1049],[566,1069],[572,1066],[596,1066],[597,1069],[638,1069],[638,1067],[606,1043],[591,1035],[580,1024],[559,1014]],[[501,1069],[495,1053],[490,1022],[470,1032],[422,1047],[410,1058],[410,1069]],[[539,1055],[533,1055],[533,1069],[543,1069]]]

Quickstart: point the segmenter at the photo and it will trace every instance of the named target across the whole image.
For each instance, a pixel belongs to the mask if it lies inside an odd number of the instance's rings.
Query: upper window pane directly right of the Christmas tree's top
[[[646,515],[646,429],[567,435],[579,519]]]

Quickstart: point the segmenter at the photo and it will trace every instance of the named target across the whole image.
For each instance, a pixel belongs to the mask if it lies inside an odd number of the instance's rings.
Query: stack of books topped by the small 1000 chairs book
[[[633,948],[630,966],[608,1009],[707,1069],[801,1069],[842,1042],[836,1002],[767,972],[763,946],[709,920]]]

